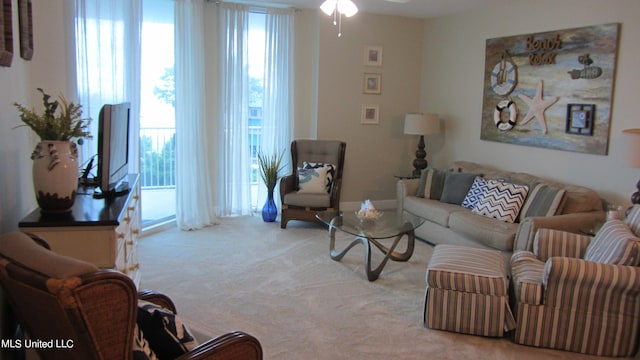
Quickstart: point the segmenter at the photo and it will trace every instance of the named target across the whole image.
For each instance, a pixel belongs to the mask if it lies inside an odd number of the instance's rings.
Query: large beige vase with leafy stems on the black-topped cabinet
[[[31,159],[36,200],[43,213],[66,213],[71,210],[78,188],[78,149],[72,139],[82,144],[91,138],[90,118],[82,117],[82,106],[68,102],[64,95],[51,101],[41,88],[44,112],[13,105],[24,123],[40,137]]]

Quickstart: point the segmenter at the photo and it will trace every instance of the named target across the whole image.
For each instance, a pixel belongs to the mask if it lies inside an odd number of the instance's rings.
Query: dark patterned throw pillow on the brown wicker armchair
[[[175,359],[198,345],[178,315],[148,301],[138,300],[137,326],[148,341],[152,354],[159,359]],[[136,333],[136,337],[141,336]],[[134,342],[144,344],[144,341]]]

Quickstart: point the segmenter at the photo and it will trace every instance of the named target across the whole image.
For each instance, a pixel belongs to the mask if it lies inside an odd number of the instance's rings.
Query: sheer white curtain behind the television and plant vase
[[[129,172],[140,163],[140,33],[142,0],[76,0],[76,86],[83,115],[93,119],[104,104],[131,102]],[[96,154],[97,139],[81,146],[83,161]]]

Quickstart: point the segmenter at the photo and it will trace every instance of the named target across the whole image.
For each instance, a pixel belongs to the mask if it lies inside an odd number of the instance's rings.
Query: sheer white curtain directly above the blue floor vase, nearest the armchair
[[[293,138],[293,21],[291,9],[268,8],[265,12],[264,101],[262,108],[262,151],[284,151],[283,174],[289,174]],[[258,208],[266,201],[267,189],[258,187]],[[276,187],[276,203],[280,197]],[[278,206],[279,208],[279,206]]]

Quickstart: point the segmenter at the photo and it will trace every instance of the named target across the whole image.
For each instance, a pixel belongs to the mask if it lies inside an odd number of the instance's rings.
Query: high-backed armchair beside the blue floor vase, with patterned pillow
[[[344,142],[335,140],[291,143],[293,173],[280,180],[281,228],[289,220],[317,222],[318,212],[340,210],[345,149]]]

